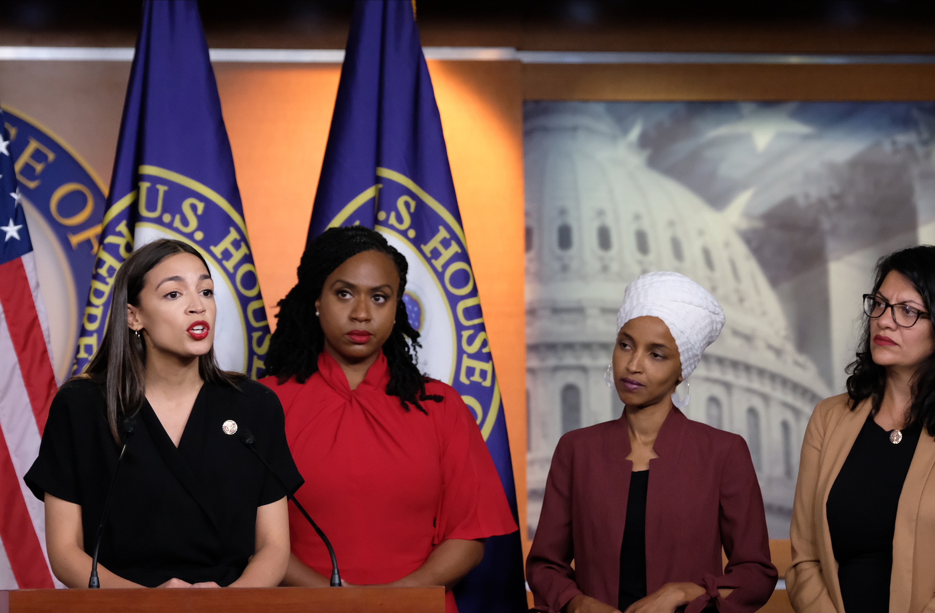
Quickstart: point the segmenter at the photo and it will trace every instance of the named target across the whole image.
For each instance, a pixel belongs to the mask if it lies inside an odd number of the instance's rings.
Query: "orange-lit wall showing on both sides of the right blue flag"
[[[339,66],[215,65],[270,326],[295,285]],[[518,62],[431,62],[510,432],[525,541],[523,117]]]

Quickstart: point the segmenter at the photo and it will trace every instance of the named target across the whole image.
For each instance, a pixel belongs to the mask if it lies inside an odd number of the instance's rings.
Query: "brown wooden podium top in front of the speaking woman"
[[[0,591],[0,613],[445,613],[444,588]]]

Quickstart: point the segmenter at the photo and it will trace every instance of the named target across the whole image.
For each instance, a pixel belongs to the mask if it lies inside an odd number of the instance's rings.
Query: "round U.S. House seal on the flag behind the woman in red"
[[[410,323],[432,340],[419,350],[419,369],[458,390],[487,440],[500,411],[500,389],[464,229],[409,177],[390,168],[376,174],[381,181],[353,198],[328,227],[368,225],[376,210],[374,229],[410,263],[403,296]]]

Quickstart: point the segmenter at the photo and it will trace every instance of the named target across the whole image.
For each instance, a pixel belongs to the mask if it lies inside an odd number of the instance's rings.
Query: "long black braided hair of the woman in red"
[[[280,385],[295,376],[305,383],[318,371],[318,357],[324,351],[324,331],[315,314],[315,300],[322,296],[324,280],[354,255],[376,251],[389,255],[399,273],[396,296],[396,324],[390,338],[383,343],[383,355],[390,370],[386,393],[399,398],[407,411],[412,404],[425,415],[428,412],[419,401],[440,402],[443,397],[425,393],[430,379],[416,366],[416,349],[420,347],[419,332],[412,328],[403,292],[409,263],[379,232],[364,226],[332,227],[311,242],[298,266],[298,283],[279,302],[279,323],[269,342],[266,374],[276,375]]]

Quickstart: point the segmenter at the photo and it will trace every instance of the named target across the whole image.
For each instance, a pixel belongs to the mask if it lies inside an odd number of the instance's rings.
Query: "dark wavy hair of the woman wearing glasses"
[[[871,293],[876,294],[886,275],[894,270],[909,280],[922,297],[926,312],[932,313],[935,305],[935,246],[909,247],[880,258]],[[929,318],[919,318],[915,325],[931,327],[932,323]],[[850,375],[847,377],[847,395],[851,399],[851,410],[870,398],[873,402],[871,415],[876,415],[880,411],[886,389],[886,369],[874,363],[870,356],[870,341],[870,317],[864,314],[864,330],[858,345],[860,348],[854,361],[847,366]],[[913,403],[909,407],[906,427],[920,423],[930,435],[935,436],[935,353],[919,365],[912,385]]]

